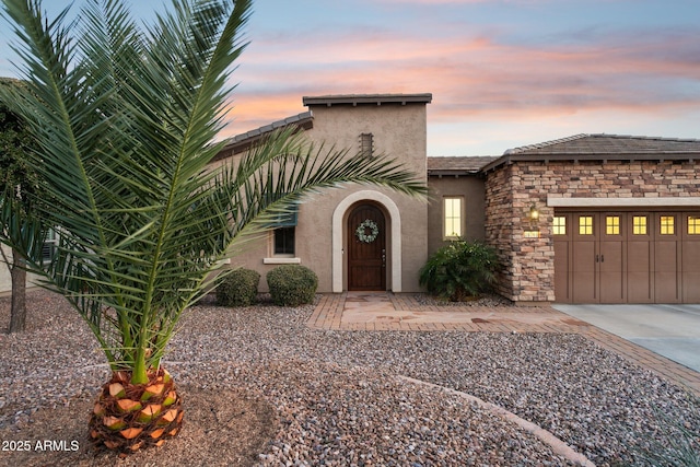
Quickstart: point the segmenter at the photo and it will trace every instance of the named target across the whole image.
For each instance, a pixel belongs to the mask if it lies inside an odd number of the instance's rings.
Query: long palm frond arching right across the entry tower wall
[[[387,156],[368,159],[348,150],[315,147],[293,128],[271,132],[217,180],[228,200],[235,241],[270,229],[279,214],[302,198],[350,184],[376,185],[424,198],[425,186],[416,174]]]

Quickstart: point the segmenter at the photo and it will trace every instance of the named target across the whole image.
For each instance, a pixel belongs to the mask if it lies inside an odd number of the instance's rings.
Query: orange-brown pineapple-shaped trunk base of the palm
[[[130,372],[114,372],[100,392],[90,417],[97,447],[132,453],[179,433],[184,412],[171,375],[159,369],[149,371],[147,384],[130,381]]]

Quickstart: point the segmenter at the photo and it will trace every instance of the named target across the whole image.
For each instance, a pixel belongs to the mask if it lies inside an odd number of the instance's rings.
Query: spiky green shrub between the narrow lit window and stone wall
[[[499,269],[495,248],[479,242],[450,242],[420,269],[420,284],[428,293],[463,302],[491,290]]]

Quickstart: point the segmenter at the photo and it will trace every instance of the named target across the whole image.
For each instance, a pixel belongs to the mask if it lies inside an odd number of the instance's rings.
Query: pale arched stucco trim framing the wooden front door
[[[388,196],[374,191],[361,190],[348,195],[332,211],[332,291],[342,292],[343,279],[343,218],[348,209],[358,201],[376,201],[388,212],[388,224],[392,225],[392,290],[401,291],[401,215],[398,207]]]

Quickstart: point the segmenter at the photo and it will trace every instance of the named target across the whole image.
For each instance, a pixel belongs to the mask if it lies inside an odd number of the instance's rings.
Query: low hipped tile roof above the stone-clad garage
[[[575,135],[509,149],[483,167],[493,170],[518,161],[666,161],[700,159],[700,140],[621,135]]]

